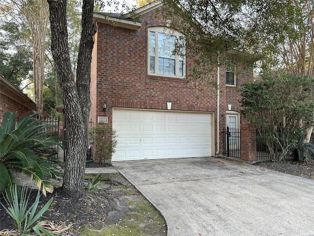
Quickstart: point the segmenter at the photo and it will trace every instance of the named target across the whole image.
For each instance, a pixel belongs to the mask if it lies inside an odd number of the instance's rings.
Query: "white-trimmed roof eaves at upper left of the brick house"
[[[152,11],[161,5],[162,0],[156,0],[127,14],[94,12],[93,22],[100,22],[110,26],[138,30],[142,26],[142,23],[136,20],[134,16],[141,16],[142,14]]]

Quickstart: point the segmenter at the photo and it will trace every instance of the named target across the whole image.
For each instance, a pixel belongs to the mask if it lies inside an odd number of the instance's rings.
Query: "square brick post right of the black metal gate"
[[[256,125],[251,123],[241,124],[241,159],[254,163],[256,151]]]

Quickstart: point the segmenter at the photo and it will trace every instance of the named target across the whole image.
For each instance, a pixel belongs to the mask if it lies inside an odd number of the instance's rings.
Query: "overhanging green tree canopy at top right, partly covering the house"
[[[183,33],[186,53],[197,55],[187,77],[198,85],[208,84],[210,68],[234,60],[258,61],[260,73],[313,76],[314,0],[163,1],[168,26]]]

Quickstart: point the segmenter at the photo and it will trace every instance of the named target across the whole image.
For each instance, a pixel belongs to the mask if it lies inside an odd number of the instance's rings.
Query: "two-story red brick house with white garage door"
[[[237,91],[253,79],[253,68],[236,75],[228,67],[216,68],[211,73],[223,92],[203,89],[197,98],[184,79],[193,60],[172,55],[176,35],[154,17],[161,4],[137,9],[136,22],[129,14],[94,13],[90,119],[116,130],[112,161],[215,156],[224,151],[227,125],[246,129],[241,142],[253,137],[239,114]],[[251,158],[247,150],[243,154],[242,159]]]

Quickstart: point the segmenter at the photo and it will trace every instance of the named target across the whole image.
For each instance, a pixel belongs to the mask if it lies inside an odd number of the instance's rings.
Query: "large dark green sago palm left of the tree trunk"
[[[55,163],[38,150],[58,145],[56,136],[47,137],[47,124],[29,112],[18,121],[16,113],[6,112],[0,127],[0,191],[16,183],[15,174],[21,173],[30,177],[42,190],[43,194],[52,192],[49,178],[61,177]]]

